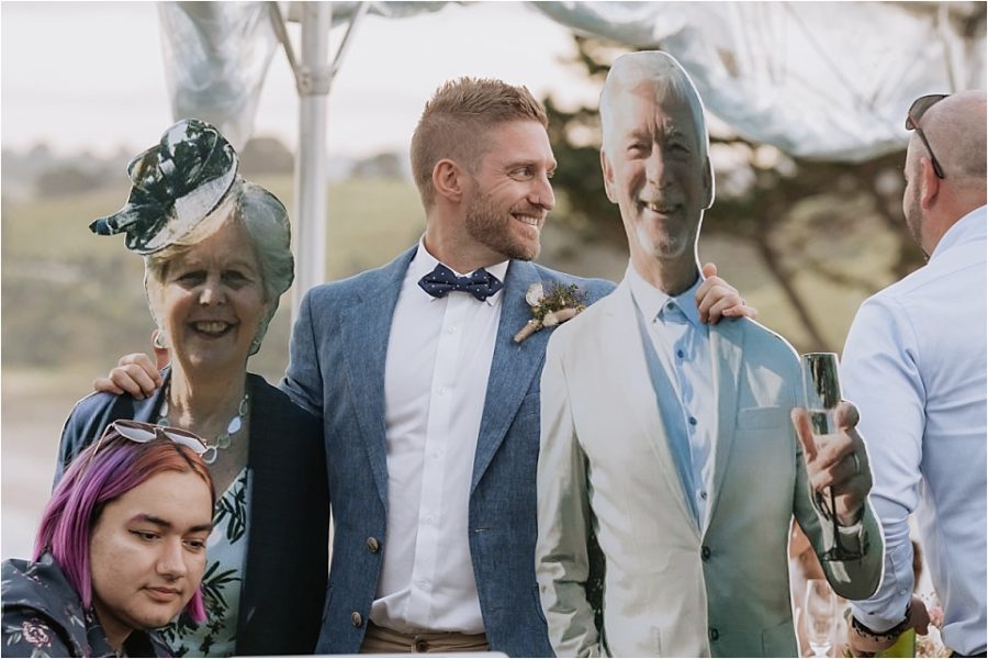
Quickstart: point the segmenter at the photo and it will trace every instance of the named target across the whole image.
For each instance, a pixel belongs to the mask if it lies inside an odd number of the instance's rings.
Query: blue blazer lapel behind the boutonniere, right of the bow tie
[[[513,260],[508,265],[484,412],[476,438],[471,492],[497,453],[546,356],[551,331],[536,332],[520,344],[514,340],[515,334],[531,319],[531,306],[525,301],[525,293],[529,286],[539,281],[539,272],[531,264]]]

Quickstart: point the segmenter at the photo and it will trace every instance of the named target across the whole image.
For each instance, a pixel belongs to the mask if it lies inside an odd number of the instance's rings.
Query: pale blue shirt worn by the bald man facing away
[[[943,641],[986,645],[985,206],[959,220],[925,267],[862,304],[844,346],[844,395],[861,411],[885,532],[885,576],[854,615],[875,630],[912,594],[916,511]]]

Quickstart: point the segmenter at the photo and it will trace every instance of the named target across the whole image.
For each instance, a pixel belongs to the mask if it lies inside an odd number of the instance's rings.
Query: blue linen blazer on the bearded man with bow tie
[[[388,541],[384,362],[392,314],[413,247],[390,264],[310,290],[281,387],[323,418],[334,518],[329,587],[317,652],[357,654]],[[470,490],[470,554],[492,650],[551,657],[535,576],[539,376],[551,331],[521,344],[532,283],[576,283],[594,302],[609,281],[510,261]]]

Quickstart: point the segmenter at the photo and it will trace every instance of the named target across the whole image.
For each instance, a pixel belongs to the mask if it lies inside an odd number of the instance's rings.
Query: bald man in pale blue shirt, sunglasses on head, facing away
[[[844,395],[861,410],[885,529],[885,576],[855,602],[855,655],[929,617],[912,596],[917,513],[954,656],[986,639],[985,92],[918,99],[907,113],[906,223],[929,263],[862,304],[847,335]]]

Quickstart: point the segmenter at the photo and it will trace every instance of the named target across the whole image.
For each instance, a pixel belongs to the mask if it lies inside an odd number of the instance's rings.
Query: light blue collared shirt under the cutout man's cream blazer
[[[695,299],[703,278],[697,276],[688,290],[675,297],[645,281],[631,264],[628,264],[625,278],[645,320],[652,345],[680,399],[678,407],[689,435],[693,481],[696,483],[693,494],[703,528],[714,479],[714,433],[717,422],[710,330],[700,322]]]

